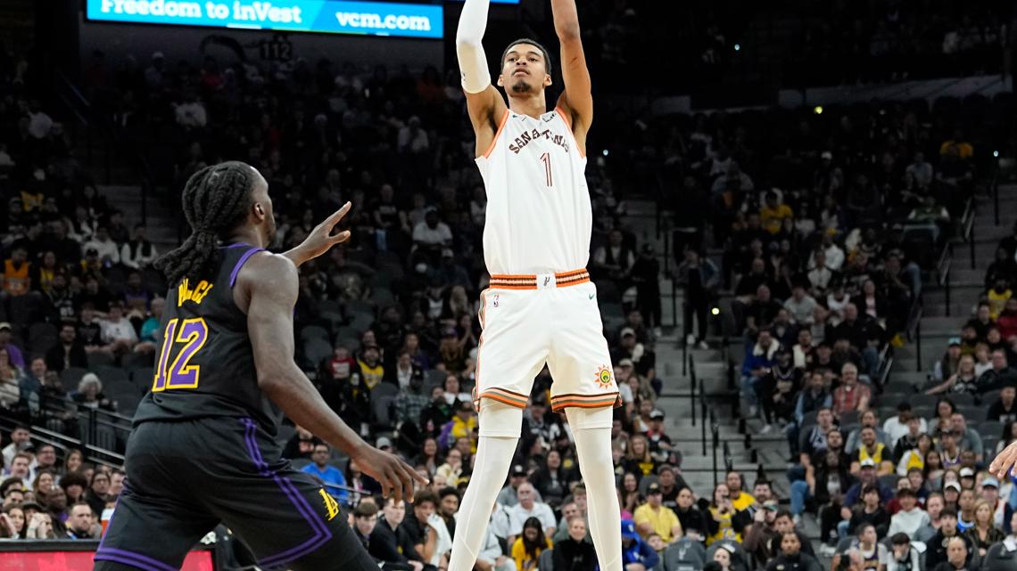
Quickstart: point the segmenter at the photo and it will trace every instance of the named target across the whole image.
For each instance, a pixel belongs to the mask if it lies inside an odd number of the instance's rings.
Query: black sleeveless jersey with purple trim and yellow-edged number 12
[[[227,417],[254,419],[276,434],[282,414],[257,386],[247,316],[233,301],[240,268],[259,251],[249,244],[224,247],[211,279],[184,278],[170,288],[152,390],[137,407],[135,427]]]

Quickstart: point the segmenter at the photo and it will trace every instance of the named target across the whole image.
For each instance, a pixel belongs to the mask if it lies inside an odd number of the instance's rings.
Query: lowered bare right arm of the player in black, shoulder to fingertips
[[[259,254],[240,271],[247,295],[247,329],[254,350],[258,387],[295,423],[356,458],[362,469],[397,500],[413,496],[420,477],[396,456],[371,447],[325,404],[293,361],[293,306],[299,291],[297,267],[284,257]]]

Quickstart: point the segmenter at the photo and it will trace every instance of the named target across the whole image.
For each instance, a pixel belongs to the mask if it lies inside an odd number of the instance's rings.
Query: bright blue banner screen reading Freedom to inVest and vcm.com
[[[441,4],[347,0],[85,0],[96,21],[441,38]]]

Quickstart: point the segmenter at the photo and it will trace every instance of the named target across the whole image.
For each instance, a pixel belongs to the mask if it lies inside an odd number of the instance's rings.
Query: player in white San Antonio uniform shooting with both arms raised
[[[593,120],[590,73],[575,0],[552,0],[564,91],[552,111],[551,61],[533,40],[513,42],[491,84],[481,39],[489,0],[466,0],[456,48],[476,162],[487,192],[477,356],[477,461],[456,525],[448,571],[470,571],[519,441],[533,379],[546,363],[551,407],[564,411],[588,491],[590,533],[602,571],[620,571],[619,508],[611,463],[612,374],[590,257],[592,212],[584,172]]]

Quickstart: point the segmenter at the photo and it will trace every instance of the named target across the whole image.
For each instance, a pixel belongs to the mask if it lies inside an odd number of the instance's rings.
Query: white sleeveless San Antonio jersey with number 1
[[[593,228],[586,156],[560,108],[539,119],[508,110],[477,167],[487,191],[489,273],[586,267]]]

